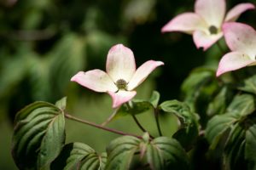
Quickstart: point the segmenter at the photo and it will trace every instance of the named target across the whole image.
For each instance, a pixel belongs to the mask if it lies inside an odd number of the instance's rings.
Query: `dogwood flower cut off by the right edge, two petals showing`
[[[223,30],[231,52],[220,60],[216,76],[248,65],[256,65],[256,31],[251,26],[236,22],[224,24]]]

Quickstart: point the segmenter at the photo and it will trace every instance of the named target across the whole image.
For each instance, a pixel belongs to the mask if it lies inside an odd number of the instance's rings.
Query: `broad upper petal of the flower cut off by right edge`
[[[232,51],[241,51],[251,59],[256,55],[256,31],[251,26],[237,22],[225,23],[223,26],[225,41]]]

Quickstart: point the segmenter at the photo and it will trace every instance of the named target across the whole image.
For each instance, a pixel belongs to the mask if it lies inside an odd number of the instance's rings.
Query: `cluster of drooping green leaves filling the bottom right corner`
[[[255,143],[255,97],[238,94],[222,115],[213,116],[207,124],[206,137],[214,150],[224,144],[224,164],[228,169],[253,169]],[[228,134],[226,141],[219,139]]]

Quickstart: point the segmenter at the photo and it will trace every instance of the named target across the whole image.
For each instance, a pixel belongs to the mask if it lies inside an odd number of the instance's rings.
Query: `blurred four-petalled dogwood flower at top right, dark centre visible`
[[[235,21],[247,9],[253,9],[252,3],[240,3],[225,15],[225,0],[196,0],[195,13],[178,14],[161,29],[162,32],[181,31],[193,34],[196,48],[207,50],[214,42],[223,37],[221,26],[225,22]]]

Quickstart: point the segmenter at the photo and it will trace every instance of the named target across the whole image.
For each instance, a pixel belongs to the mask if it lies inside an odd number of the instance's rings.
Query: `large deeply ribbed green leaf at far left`
[[[65,119],[55,105],[35,102],[17,113],[12,154],[20,169],[47,169],[64,143]]]

